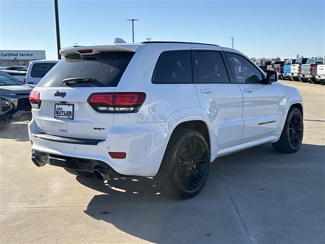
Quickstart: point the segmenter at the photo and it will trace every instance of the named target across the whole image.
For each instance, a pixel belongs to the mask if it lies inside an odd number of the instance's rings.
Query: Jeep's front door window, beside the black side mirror
[[[238,83],[261,83],[261,72],[246,58],[235,53],[228,53],[228,57]]]

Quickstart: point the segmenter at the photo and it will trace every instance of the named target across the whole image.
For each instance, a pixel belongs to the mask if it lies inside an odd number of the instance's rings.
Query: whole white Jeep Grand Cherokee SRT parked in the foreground
[[[144,42],[62,49],[31,92],[32,161],[80,176],[153,176],[161,192],[198,194],[210,162],[303,139],[298,90],[217,45]]]

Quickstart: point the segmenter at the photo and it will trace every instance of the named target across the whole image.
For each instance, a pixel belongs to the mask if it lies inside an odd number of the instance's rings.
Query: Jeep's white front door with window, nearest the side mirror
[[[233,76],[243,94],[245,129],[240,143],[274,135],[279,121],[279,95],[276,87],[262,84],[265,78],[248,58],[226,52]]]

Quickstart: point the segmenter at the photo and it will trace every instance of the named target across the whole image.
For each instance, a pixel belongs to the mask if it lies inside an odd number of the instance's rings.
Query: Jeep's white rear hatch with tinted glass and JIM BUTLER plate
[[[87,100],[93,93],[114,93],[134,53],[86,49],[81,54],[69,50],[33,91],[39,92],[33,95],[40,100],[40,108],[33,109],[39,131],[62,137],[106,139],[114,113],[104,107],[107,101],[94,108]],[[96,99],[101,104],[101,99],[107,97]],[[37,107],[38,102],[32,106]]]

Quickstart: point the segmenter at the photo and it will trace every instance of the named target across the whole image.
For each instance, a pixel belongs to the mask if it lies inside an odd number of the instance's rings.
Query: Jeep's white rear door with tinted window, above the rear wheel
[[[217,140],[217,148],[212,151],[237,145],[244,131],[243,95],[230,78],[224,59],[222,50],[192,51],[193,80],[200,106],[210,123],[210,133]]]

